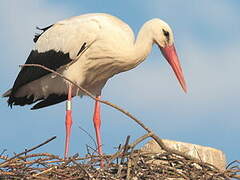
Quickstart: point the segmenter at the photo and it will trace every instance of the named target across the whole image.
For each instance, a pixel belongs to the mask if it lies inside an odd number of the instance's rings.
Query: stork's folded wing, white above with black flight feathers
[[[44,32],[35,36],[36,48],[31,51],[25,64],[40,64],[57,70],[74,62],[96,40],[99,29],[96,21],[79,17],[43,28]],[[9,105],[24,105],[19,104],[14,96],[18,89],[49,73],[39,67],[23,67],[8,94]],[[28,102],[28,104],[31,103],[33,102]]]

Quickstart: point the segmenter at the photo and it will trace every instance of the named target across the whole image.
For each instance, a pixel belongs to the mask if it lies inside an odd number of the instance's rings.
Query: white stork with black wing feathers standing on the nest
[[[122,20],[109,14],[86,14],[59,21],[41,29],[25,64],[40,64],[56,70],[100,99],[107,80],[143,62],[156,43],[171,65],[186,92],[180,62],[174,47],[173,32],[160,19],[147,21],[137,38]],[[38,67],[23,67],[12,89],[3,96],[8,104],[36,103],[39,109],[66,101],[66,141],[64,156],[68,156],[72,125],[71,98],[84,95],[66,80]],[[98,153],[102,155],[100,136],[100,104],[95,103],[93,116]]]

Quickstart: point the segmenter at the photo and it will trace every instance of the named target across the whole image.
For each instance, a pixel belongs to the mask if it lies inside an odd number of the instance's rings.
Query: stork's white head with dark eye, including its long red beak
[[[151,20],[151,31],[153,33],[153,41],[158,45],[163,56],[171,65],[183,90],[187,92],[187,85],[174,46],[173,32],[170,26],[160,19],[153,19]]]

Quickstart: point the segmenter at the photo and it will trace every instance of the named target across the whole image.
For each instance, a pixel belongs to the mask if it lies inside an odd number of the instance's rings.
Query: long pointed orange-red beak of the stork
[[[179,62],[174,44],[172,44],[171,46],[167,46],[165,48],[160,47],[160,50],[163,56],[167,59],[168,63],[171,65],[180,85],[182,86],[182,89],[184,90],[185,93],[187,93],[187,85],[184,80],[181,64]]]

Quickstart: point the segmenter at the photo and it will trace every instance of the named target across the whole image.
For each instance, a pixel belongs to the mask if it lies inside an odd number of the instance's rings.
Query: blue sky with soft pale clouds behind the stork
[[[223,150],[229,161],[240,159],[240,3],[237,0],[162,1],[46,1],[0,2],[0,93],[9,89],[33,48],[35,27],[90,12],[120,17],[137,34],[151,18],[168,22],[184,69],[189,92],[184,94],[172,70],[153,47],[148,59],[129,72],[110,79],[103,90],[109,100],[138,117],[162,138],[211,146]],[[94,137],[88,97],[74,98],[70,153],[94,147],[78,126]],[[7,107],[0,100],[0,152],[23,151],[47,138],[57,139],[38,151],[62,155],[65,104],[38,111],[30,106]],[[144,131],[120,112],[102,106],[103,149],[106,153]]]

